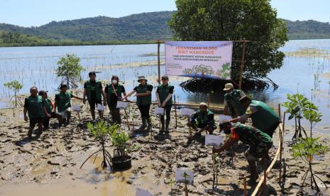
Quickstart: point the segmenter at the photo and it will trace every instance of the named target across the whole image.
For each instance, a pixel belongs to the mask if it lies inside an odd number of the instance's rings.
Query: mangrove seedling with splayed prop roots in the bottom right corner
[[[318,141],[319,138],[299,138],[297,143],[292,146],[292,156],[295,158],[301,158],[305,163],[308,164],[308,169],[306,173],[304,173],[304,175],[302,176],[302,178],[304,179],[302,181],[302,187],[304,186],[304,182],[307,178],[308,173],[310,173],[312,189],[314,190],[313,185],[315,185],[317,192],[319,192],[320,190],[315,178],[318,178],[321,183],[323,183],[327,188],[326,183],[324,183],[323,180],[321,180],[317,175],[315,175],[312,170],[313,156],[318,156],[320,154],[326,153],[327,151],[327,146],[322,146],[321,143],[319,143]]]

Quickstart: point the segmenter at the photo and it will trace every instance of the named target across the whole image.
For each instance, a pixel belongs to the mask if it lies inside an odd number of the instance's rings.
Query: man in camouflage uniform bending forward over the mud
[[[255,161],[259,158],[264,161],[268,159],[268,151],[273,146],[272,138],[253,126],[240,123],[231,124],[231,122],[225,121],[219,126],[220,131],[224,130],[225,134],[230,134],[230,138],[224,143],[224,146],[214,149],[213,153],[221,153],[221,151],[230,148],[237,140],[248,144],[249,148],[245,152],[245,156],[250,167],[250,183],[255,183],[258,179]]]

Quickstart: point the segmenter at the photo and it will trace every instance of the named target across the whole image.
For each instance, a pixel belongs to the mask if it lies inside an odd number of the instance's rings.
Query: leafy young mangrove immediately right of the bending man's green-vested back
[[[289,120],[295,119],[295,135],[292,140],[297,140],[297,138],[302,138],[302,133],[307,137],[306,131],[301,125],[301,120],[303,118],[303,111],[307,104],[310,102],[302,94],[287,94],[288,101],[283,104],[287,108],[286,113],[290,113]]]

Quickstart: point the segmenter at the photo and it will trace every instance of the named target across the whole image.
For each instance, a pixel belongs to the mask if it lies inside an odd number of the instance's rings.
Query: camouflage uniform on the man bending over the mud
[[[273,146],[273,140],[268,134],[253,126],[246,126],[240,123],[233,124],[231,138],[238,139],[249,145],[245,155],[248,160],[252,161],[268,156],[268,151]]]

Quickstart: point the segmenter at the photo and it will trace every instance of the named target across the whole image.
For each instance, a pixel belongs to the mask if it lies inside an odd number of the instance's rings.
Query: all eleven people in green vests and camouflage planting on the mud
[[[136,105],[141,112],[142,124],[139,130],[150,131],[152,129],[150,105],[153,85],[149,85],[148,80],[144,76],[138,77],[139,85],[131,92],[128,92],[128,94],[126,94],[125,87],[119,82],[118,76],[112,76],[111,81],[104,89],[101,82],[96,80],[96,77],[95,72],[89,72],[89,80],[84,82],[82,98],[75,96],[72,92],[68,92],[67,85],[60,85],[60,92],[55,94],[54,104],[48,99],[46,91],[41,90],[38,92],[37,87],[31,87],[31,95],[25,99],[23,110],[24,120],[28,121],[30,119],[28,137],[32,136],[35,124],[38,124],[38,134],[42,134],[43,126],[44,129],[48,129],[50,118],[57,118],[59,126],[63,123],[70,123],[72,97],[82,99],[84,103],[87,98],[93,120],[95,120],[97,104],[104,104],[104,106],[107,105],[109,107],[113,123],[121,124],[121,114],[116,107],[117,102],[128,102],[128,97],[135,94]],[[168,81],[169,78],[166,75],[161,77],[161,84],[155,93],[158,107],[164,108],[165,111],[165,114],[160,116],[160,132],[165,133],[169,132],[170,111],[173,104],[172,94],[174,91],[174,87]],[[232,119],[230,121],[221,121],[219,128],[220,131],[229,134],[229,139],[221,148],[214,148],[214,153],[220,153],[230,148],[238,140],[248,144],[250,147],[246,151],[245,156],[250,166],[251,181],[255,181],[258,178],[255,161],[259,158],[264,160],[268,158],[268,151],[273,146],[273,133],[277,129],[278,124],[280,124],[280,117],[267,104],[247,97],[243,91],[234,89],[231,83],[225,85],[224,91],[226,91],[226,94],[224,95],[223,114],[231,116]],[[27,113],[28,116],[26,115]],[[100,118],[103,117],[102,113],[102,111],[99,111]],[[251,118],[252,126],[245,125],[248,118]],[[201,136],[203,131],[214,134],[214,130],[217,127],[214,121],[214,113],[208,109],[207,104],[204,102],[199,104],[199,110],[192,115],[187,126],[196,130],[192,138]]]

